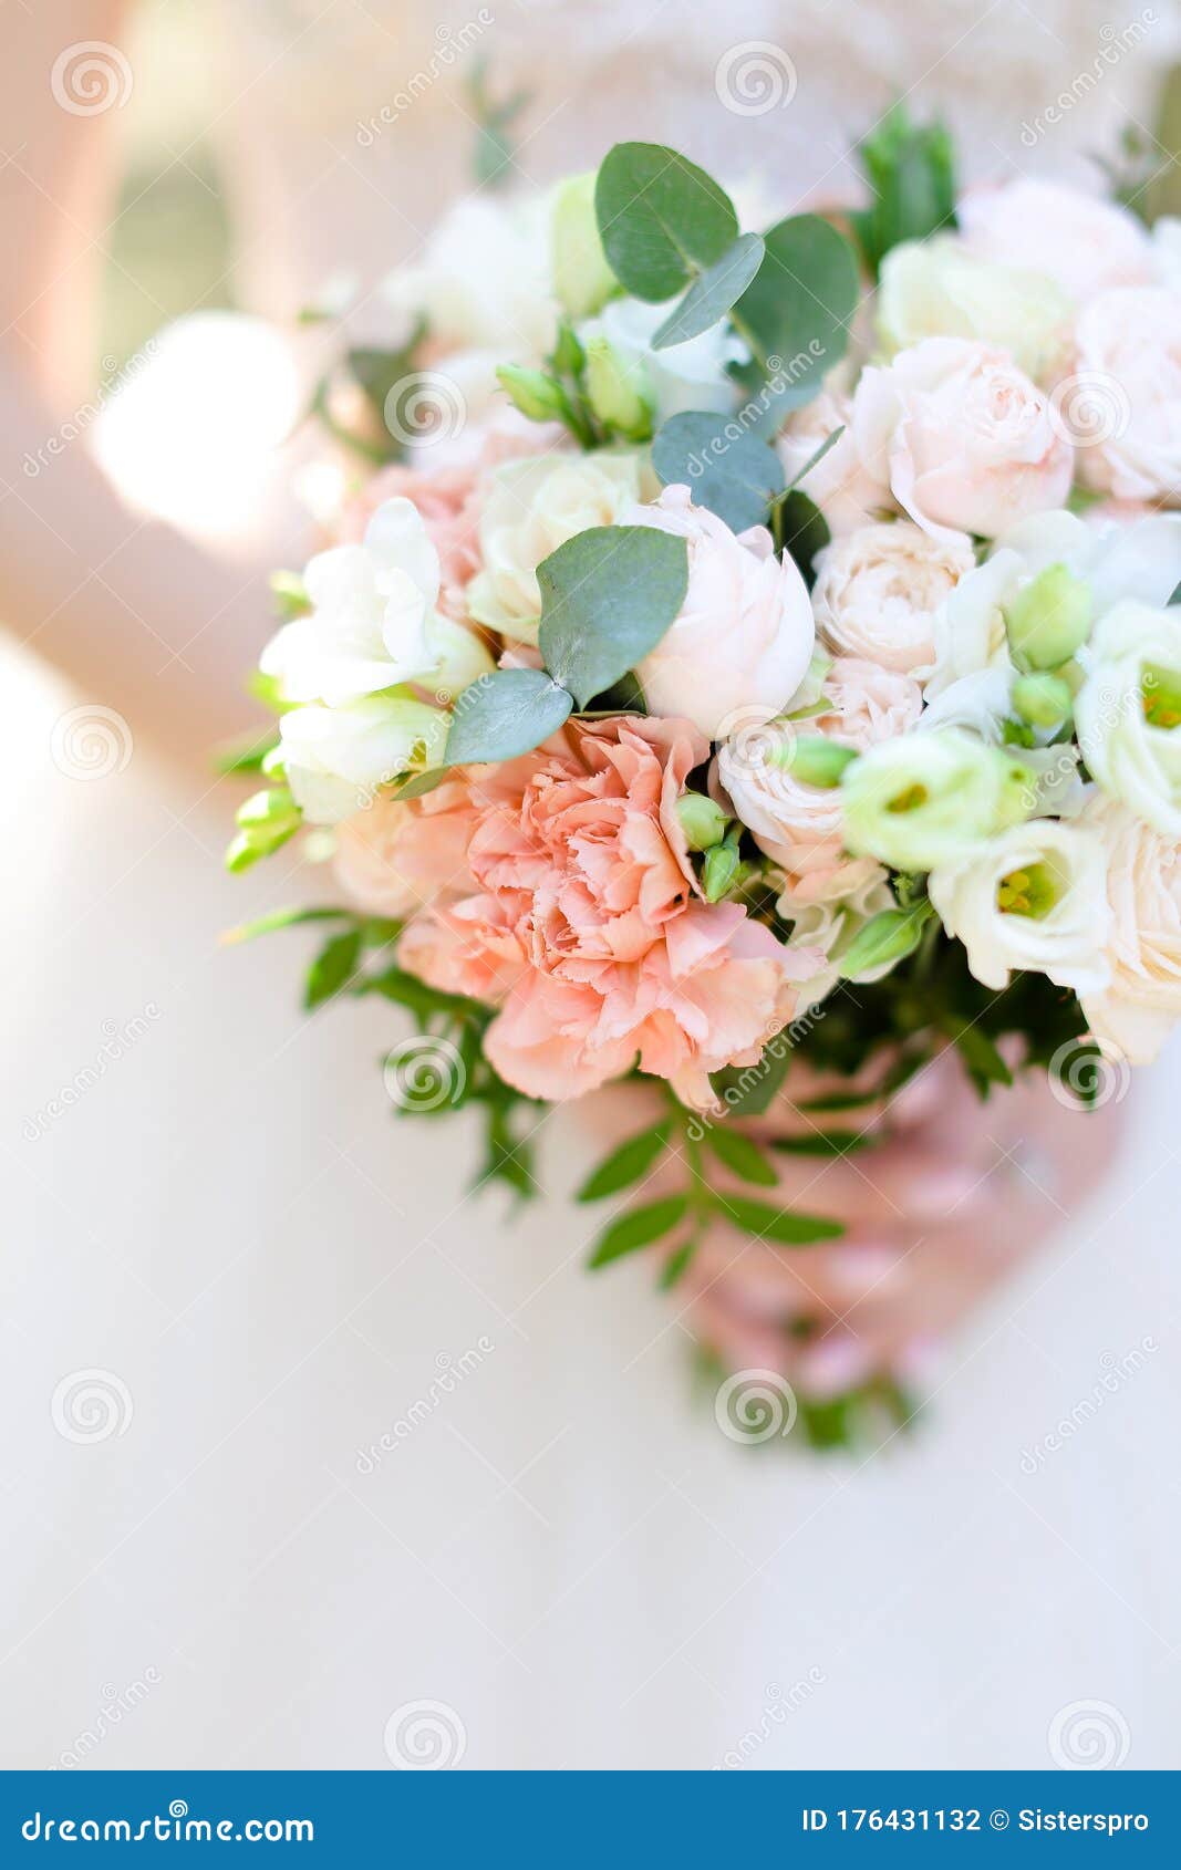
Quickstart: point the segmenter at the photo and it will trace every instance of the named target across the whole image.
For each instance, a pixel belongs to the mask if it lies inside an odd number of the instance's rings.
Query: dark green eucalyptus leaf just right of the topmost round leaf
[[[853,249],[820,215],[792,215],[764,236],[764,264],[736,305],[775,410],[797,410],[820,391],[848,348],[859,279]]]

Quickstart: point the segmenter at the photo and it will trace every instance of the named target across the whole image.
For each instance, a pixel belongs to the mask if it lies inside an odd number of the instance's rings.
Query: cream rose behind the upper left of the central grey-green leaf
[[[483,570],[466,589],[472,617],[518,643],[535,643],[541,561],[591,525],[616,525],[644,494],[642,460],[629,451],[503,462],[490,475],[479,522]]]

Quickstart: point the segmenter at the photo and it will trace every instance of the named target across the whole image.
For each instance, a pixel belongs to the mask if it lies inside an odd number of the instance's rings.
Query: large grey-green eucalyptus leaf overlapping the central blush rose
[[[655,525],[593,525],[541,561],[537,583],[545,666],[586,707],[634,669],[676,619],[689,587],[689,546]]]

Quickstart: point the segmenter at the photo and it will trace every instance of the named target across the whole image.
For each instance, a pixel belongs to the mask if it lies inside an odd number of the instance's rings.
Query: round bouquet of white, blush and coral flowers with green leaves
[[[234,761],[230,868],[309,828],[335,879],[240,933],[326,924],[307,1004],[401,1008],[481,1178],[648,1083],[582,1197],[664,1283],[840,1232],[777,1111],[844,1152],[949,1053],[1086,1098],[1181,1012],[1181,228],[960,196],[900,110],[861,159],[764,232],[642,142],[457,209],[320,385],[356,466]]]

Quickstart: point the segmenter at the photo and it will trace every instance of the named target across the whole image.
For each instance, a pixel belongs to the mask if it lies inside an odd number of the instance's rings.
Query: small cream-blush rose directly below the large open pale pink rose
[[[932,539],[897,520],[844,533],[816,555],[812,611],[829,649],[911,675],[934,662],[934,619],[975,570],[966,533]]]

